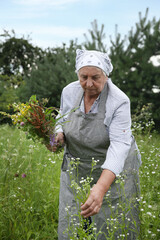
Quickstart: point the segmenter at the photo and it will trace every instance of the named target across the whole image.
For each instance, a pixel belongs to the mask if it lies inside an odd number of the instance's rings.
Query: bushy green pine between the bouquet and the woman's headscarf
[[[19,89],[19,97],[26,101],[33,94],[38,98],[48,98],[49,105],[59,107],[63,87],[77,80],[75,73],[75,54],[77,44],[48,49],[46,56],[25,77],[24,85]]]

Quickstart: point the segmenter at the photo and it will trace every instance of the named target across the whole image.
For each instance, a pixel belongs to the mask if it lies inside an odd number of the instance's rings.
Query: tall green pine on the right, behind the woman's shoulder
[[[147,20],[139,13],[135,31],[121,39],[116,31],[115,40],[111,39],[110,57],[114,66],[112,80],[131,99],[132,110],[138,105],[152,103],[155,122],[160,118],[160,67],[151,62],[152,56],[160,55],[160,20]],[[157,92],[154,92],[154,88]]]

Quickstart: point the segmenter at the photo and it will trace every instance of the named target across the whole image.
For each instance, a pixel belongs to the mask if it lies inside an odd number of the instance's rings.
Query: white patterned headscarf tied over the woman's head
[[[82,67],[94,66],[101,68],[107,76],[112,72],[113,66],[107,53],[95,50],[76,50],[76,72]]]

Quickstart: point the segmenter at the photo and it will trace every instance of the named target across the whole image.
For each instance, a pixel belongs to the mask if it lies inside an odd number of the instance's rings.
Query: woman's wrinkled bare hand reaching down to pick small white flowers
[[[88,199],[81,205],[81,215],[87,218],[97,214],[102,206],[104,195],[103,188],[99,184],[94,185]]]

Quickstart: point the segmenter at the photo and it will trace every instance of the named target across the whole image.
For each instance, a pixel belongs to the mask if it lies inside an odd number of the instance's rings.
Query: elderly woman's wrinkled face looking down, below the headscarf
[[[97,67],[82,67],[78,73],[79,81],[85,94],[89,97],[97,97],[104,88],[107,76]]]

